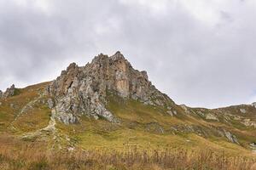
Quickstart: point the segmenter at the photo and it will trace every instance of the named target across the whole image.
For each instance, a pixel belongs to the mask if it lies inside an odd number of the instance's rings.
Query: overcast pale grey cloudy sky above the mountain
[[[177,104],[248,104],[255,18],[255,0],[0,0],[0,89],[119,50]]]

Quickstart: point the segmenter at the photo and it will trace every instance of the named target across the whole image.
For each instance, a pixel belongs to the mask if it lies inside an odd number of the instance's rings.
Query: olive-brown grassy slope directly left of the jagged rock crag
[[[43,99],[38,99],[47,84],[48,82],[44,82],[18,89],[19,94],[0,100],[0,132],[26,133],[47,126],[50,111],[42,104]],[[27,105],[30,102],[32,108]],[[24,114],[21,113],[22,110]]]

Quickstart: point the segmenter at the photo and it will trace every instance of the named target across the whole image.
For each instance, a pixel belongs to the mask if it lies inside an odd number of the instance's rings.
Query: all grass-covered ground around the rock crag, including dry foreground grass
[[[80,116],[79,123],[73,125],[56,121],[51,132],[42,130],[51,116],[48,97],[42,95],[48,84],[20,88],[15,96],[0,99],[1,169],[57,169],[55,163],[63,164],[62,169],[70,165],[78,169],[246,169],[256,158],[249,146],[256,139],[255,128],[237,118],[253,120],[250,106],[242,106],[247,113],[241,115],[240,108],[234,107],[189,108],[186,113],[181,106],[173,105],[177,116],[170,116],[165,107],[108,93],[106,107],[119,123]],[[233,112],[234,117],[228,119],[225,114]],[[207,120],[207,114],[217,116],[218,121]],[[239,144],[231,143],[224,130],[236,135]],[[30,148],[27,152],[26,147]]]

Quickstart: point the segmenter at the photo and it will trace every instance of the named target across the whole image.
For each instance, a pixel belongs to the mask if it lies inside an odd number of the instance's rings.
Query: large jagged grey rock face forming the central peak
[[[55,116],[65,123],[78,122],[81,115],[118,122],[106,109],[108,93],[145,105],[168,107],[173,103],[148,81],[146,71],[134,70],[119,52],[111,57],[100,54],[81,67],[73,63],[47,88],[47,94],[55,100]]]

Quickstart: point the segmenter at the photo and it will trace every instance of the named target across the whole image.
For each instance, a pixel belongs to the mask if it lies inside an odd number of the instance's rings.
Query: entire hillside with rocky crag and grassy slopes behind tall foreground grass
[[[213,150],[251,160],[256,105],[176,105],[122,54],[100,54],[87,65],[69,65],[52,82],[1,92],[0,143],[8,150],[69,154]]]

